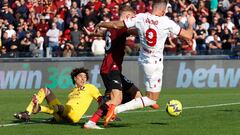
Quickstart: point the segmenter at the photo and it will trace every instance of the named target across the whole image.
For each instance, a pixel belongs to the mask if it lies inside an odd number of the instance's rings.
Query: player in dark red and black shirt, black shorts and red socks
[[[124,6],[120,9],[120,20],[133,17],[134,15],[135,11],[129,6]],[[106,23],[106,25],[104,25],[104,23],[100,24],[101,26],[98,27],[111,27],[109,26],[111,25],[109,23]],[[106,40],[105,57],[102,62],[100,74],[106,87],[105,95],[109,95],[110,100],[103,103],[84,125],[84,128],[88,129],[101,129],[96,123],[101,117],[107,114],[109,109],[114,109],[115,106],[121,103],[142,96],[139,89],[122,74],[122,62],[125,54],[126,37],[130,34],[136,35],[137,33],[135,29],[116,30],[113,28],[104,32],[98,31],[95,33],[89,33],[86,29],[85,31],[92,36],[105,36]],[[156,105],[155,108],[158,108],[158,106]],[[105,121],[110,121],[110,119],[105,119]]]

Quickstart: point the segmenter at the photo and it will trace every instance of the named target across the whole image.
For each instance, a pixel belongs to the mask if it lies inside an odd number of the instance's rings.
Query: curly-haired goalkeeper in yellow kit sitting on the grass
[[[101,93],[92,84],[87,84],[88,70],[75,68],[71,71],[71,78],[75,87],[69,92],[65,105],[57,99],[56,95],[49,88],[41,88],[37,94],[33,95],[32,101],[26,111],[14,114],[20,120],[30,120],[31,114],[39,112],[53,115],[56,122],[77,123],[87,111],[93,99],[101,102]],[[48,106],[41,105],[44,99]]]

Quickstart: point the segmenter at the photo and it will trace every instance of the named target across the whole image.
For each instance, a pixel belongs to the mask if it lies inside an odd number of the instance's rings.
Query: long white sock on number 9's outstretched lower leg
[[[121,104],[115,108],[115,113],[121,113],[129,110],[135,110],[138,108],[143,108],[146,106],[151,106],[156,104],[156,101],[148,98],[148,97],[140,97],[140,98],[135,98],[125,104]]]

